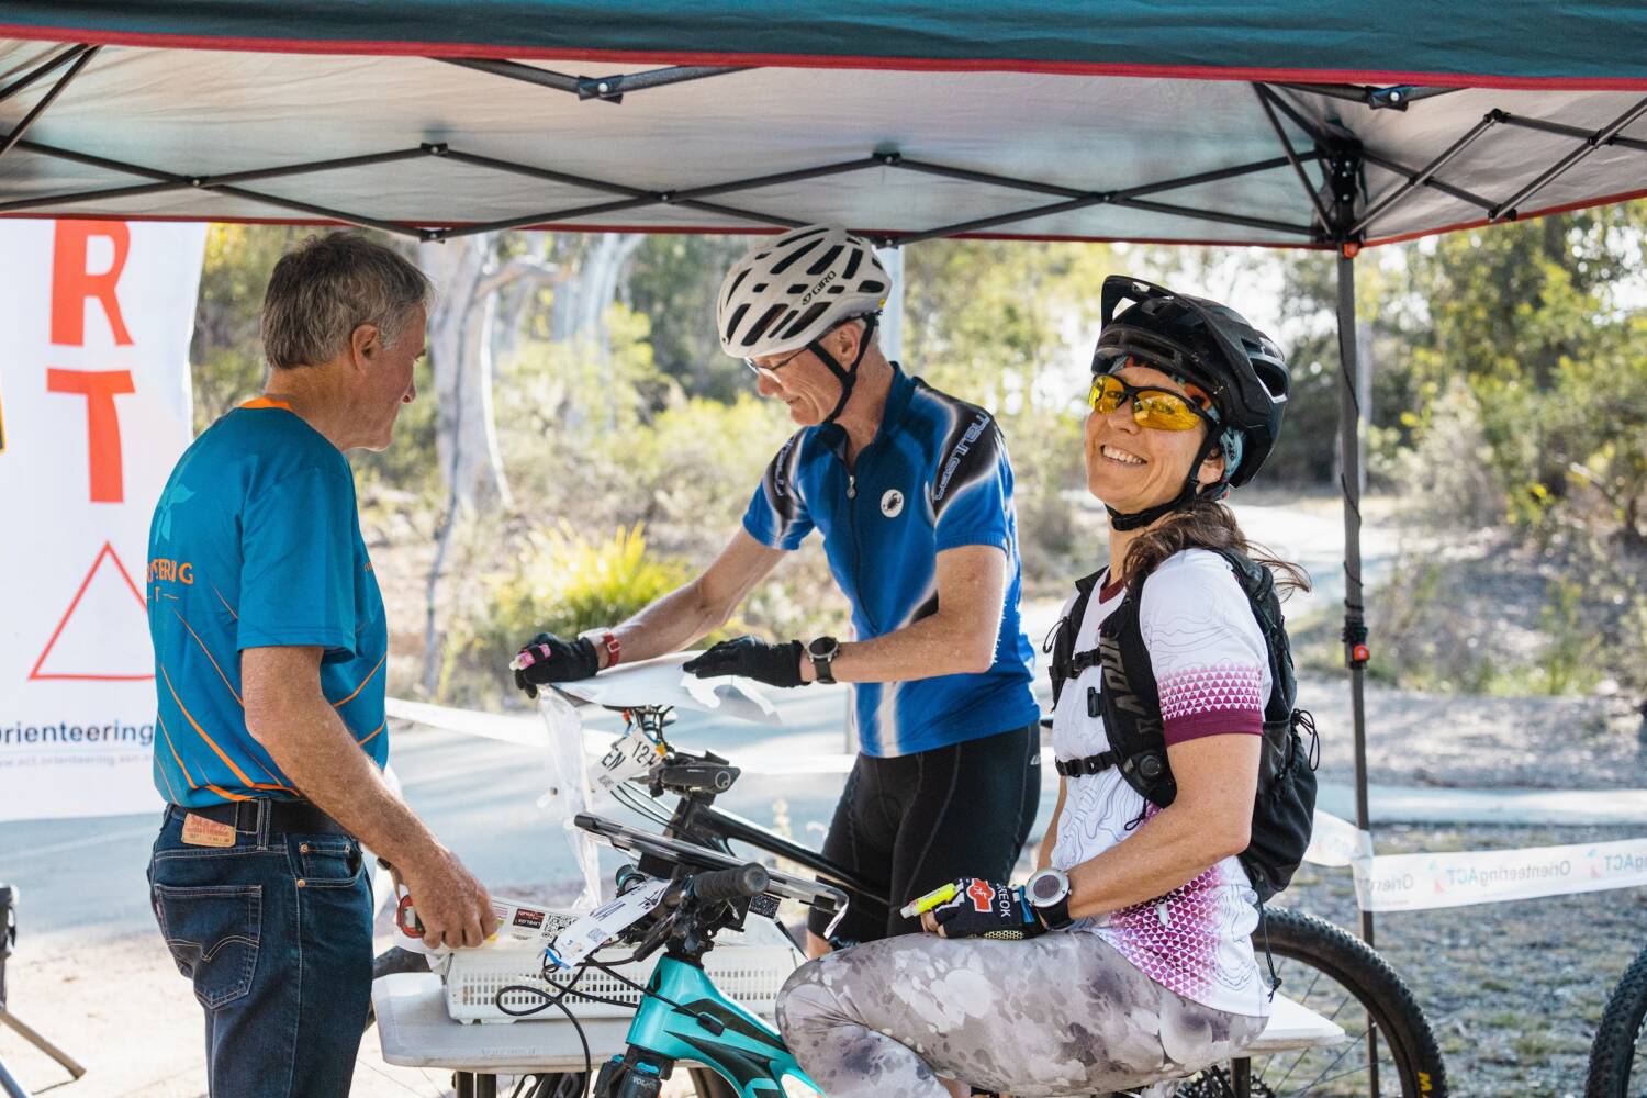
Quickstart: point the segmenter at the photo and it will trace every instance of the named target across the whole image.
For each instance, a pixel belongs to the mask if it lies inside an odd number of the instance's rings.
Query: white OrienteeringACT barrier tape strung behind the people
[[[544,724],[535,716],[469,713],[415,701],[389,700],[389,714],[455,733],[542,747]],[[585,729],[585,749],[596,759],[613,747],[611,733]],[[1043,764],[1052,765],[1051,749]],[[847,774],[851,756],[786,756],[756,751],[740,757],[746,774]],[[1355,902],[1369,912],[1415,912],[1545,896],[1573,896],[1647,886],[1647,838],[1570,846],[1532,846],[1443,854],[1374,854],[1372,835],[1354,823],[1316,810],[1304,861],[1349,866]]]

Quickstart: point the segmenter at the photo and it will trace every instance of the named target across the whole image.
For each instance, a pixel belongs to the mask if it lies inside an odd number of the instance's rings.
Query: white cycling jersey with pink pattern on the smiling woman
[[[1122,604],[1123,594],[1118,586],[1094,591],[1074,652],[1097,647],[1099,626]],[[1138,626],[1150,650],[1168,744],[1224,733],[1263,734],[1270,662],[1252,606],[1222,556],[1186,550],[1161,563],[1143,584]],[[1108,749],[1103,718],[1087,713],[1087,691],[1100,678],[1102,670],[1090,667],[1064,683],[1052,713],[1052,751],[1059,759],[1084,759]],[[1064,782],[1064,812],[1052,848],[1052,864],[1059,869],[1138,835],[1158,812],[1113,767]],[[1145,975],[1186,999],[1234,1014],[1268,1014],[1268,988],[1252,950],[1258,925],[1255,900],[1247,871],[1235,858],[1225,858],[1166,896],[1077,919],[1071,928],[1100,935]]]

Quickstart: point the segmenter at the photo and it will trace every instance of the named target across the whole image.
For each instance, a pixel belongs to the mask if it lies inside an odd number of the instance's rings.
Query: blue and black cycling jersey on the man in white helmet
[[[1021,568],[1013,468],[983,408],[893,367],[875,440],[847,468],[847,431],[797,431],[766,469],[743,527],[796,550],[817,527],[858,640],[937,611],[937,555],[963,545],[1006,553],[1006,606],[995,663],[982,675],[855,683],[853,719],[868,756],[906,756],[1033,724],[1034,650],[1018,621]]]

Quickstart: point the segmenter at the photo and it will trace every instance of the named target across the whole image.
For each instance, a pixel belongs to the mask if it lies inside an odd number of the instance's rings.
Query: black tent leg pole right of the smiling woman
[[[1364,486],[1360,441],[1360,361],[1355,347],[1355,260],[1337,260],[1339,326],[1339,486],[1344,492],[1344,663],[1349,668],[1351,719],[1355,731],[1355,826],[1372,831],[1367,812],[1367,619],[1360,591],[1360,494]],[[1360,937],[1372,945],[1372,912],[1360,912]],[[1379,1095],[1379,1035],[1367,1017],[1369,1095]]]

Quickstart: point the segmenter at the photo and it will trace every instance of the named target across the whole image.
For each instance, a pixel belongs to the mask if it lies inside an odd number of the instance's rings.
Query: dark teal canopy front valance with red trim
[[[0,35],[277,53],[1647,91],[1635,0],[7,0]]]

